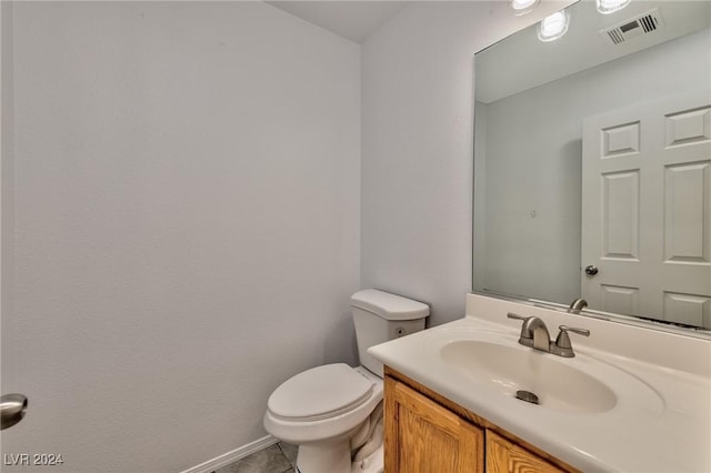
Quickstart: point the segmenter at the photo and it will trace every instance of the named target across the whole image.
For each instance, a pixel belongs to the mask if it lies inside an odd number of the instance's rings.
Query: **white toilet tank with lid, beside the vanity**
[[[430,308],[422,302],[375,289],[359,291],[351,296],[353,322],[360,364],[380,378],[382,363],[368,349],[424,329]]]

